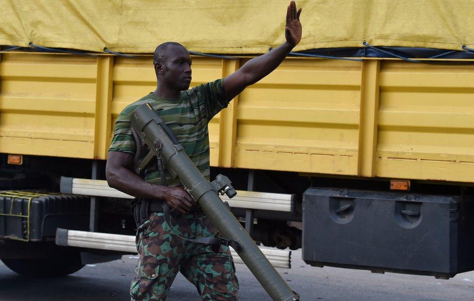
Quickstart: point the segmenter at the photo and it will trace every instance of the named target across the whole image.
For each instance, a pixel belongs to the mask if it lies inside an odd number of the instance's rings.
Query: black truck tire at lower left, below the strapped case
[[[58,277],[77,272],[84,265],[77,251],[54,254],[50,258],[1,259],[12,271],[24,276]]]

